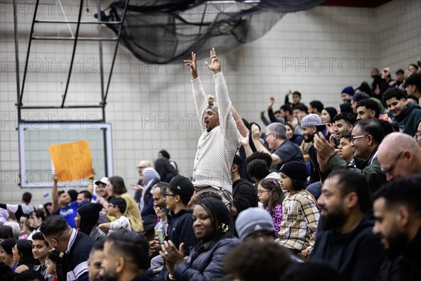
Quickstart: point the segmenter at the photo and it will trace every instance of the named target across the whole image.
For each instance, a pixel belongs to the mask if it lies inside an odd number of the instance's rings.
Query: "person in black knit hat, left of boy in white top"
[[[76,218],[74,222],[79,231],[89,235],[95,241],[101,241],[105,239],[105,233],[102,232],[96,225],[100,218],[100,211],[102,210],[102,204],[100,203],[88,203],[83,204],[82,207],[77,209]]]

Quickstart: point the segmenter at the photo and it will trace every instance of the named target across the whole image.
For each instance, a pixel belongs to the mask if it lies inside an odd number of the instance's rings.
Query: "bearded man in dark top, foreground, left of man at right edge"
[[[353,171],[334,171],[324,181],[317,203],[323,231],[311,259],[330,263],[344,280],[374,280],[384,251],[373,235],[374,221],[366,216],[371,207],[366,179]]]

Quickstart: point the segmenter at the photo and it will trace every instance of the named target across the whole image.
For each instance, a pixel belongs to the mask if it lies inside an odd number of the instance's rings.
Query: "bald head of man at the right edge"
[[[379,145],[377,159],[387,181],[421,173],[421,148],[406,133],[389,133]]]

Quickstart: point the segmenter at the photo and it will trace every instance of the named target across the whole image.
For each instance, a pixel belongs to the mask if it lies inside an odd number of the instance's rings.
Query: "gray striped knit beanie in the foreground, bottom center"
[[[241,211],[235,221],[235,228],[241,241],[256,231],[275,233],[272,216],[262,208],[254,207]]]

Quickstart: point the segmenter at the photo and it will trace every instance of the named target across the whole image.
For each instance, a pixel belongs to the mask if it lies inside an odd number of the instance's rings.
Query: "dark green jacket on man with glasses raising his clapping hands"
[[[354,166],[349,166],[347,162],[337,154],[330,157],[328,167],[330,171],[352,169],[356,173],[362,174],[366,178],[371,192],[375,192],[375,190],[380,188],[380,185],[387,183],[386,174],[380,169],[380,163],[379,160],[377,160],[377,148],[371,153],[370,159],[358,165],[359,169],[354,168]],[[327,175],[328,174],[321,175],[322,181],[324,181]]]

